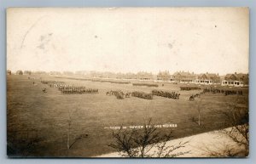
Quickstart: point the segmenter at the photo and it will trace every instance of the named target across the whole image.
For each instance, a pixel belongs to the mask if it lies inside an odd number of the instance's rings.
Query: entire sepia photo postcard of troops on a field
[[[7,156],[249,156],[249,8],[7,8]]]

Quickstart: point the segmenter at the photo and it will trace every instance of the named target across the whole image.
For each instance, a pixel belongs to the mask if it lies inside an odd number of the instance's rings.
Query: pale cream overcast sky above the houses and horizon
[[[248,72],[247,8],[9,8],[7,69]]]

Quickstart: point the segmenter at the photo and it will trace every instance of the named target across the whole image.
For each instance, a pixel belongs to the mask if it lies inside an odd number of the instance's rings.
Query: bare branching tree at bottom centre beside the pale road
[[[151,126],[151,119],[143,129],[123,129],[117,133],[113,132],[113,142],[108,144],[121,156],[128,157],[175,157],[189,153],[189,151],[178,151],[185,147],[188,142],[180,142],[177,145],[168,145],[172,139],[172,131],[160,133]]]

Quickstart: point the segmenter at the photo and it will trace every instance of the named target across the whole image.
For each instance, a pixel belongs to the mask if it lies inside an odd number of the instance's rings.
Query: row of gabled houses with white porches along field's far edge
[[[160,71],[157,74],[158,81],[169,81],[177,83],[194,83],[202,85],[221,84],[222,86],[244,87],[248,85],[248,74],[233,73],[219,76],[215,73],[195,74],[189,71],[177,71],[173,75],[169,71]]]

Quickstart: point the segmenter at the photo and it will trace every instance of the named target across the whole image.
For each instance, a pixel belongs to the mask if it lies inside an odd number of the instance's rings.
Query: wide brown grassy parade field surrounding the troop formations
[[[35,76],[39,77],[39,76]],[[107,96],[109,90],[143,91],[150,93],[154,88],[132,86],[109,82],[79,81],[54,76],[41,76],[42,80],[67,82],[86,88],[98,88],[99,93],[62,94],[57,88],[49,88],[39,79],[28,76],[8,76],[8,148],[10,156],[99,156],[114,151],[107,144],[112,142],[112,130],[108,126],[143,125],[148,118],[154,124],[174,123],[175,138],[205,133],[224,128],[224,118],[212,110],[230,110],[234,105],[247,108],[247,88],[241,88],[243,95],[206,93],[195,101],[189,101],[191,94],[201,90],[180,91],[180,84],[166,83],[157,89],[179,91],[180,99],[154,99],[131,97],[116,99]],[[36,85],[33,85],[35,82]],[[184,86],[185,84],[183,84]],[[47,93],[42,92],[47,88]],[[192,122],[201,109],[201,126]],[[71,119],[69,117],[71,116]],[[80,134],[88,134],[67,150],[68,122],[73,140]],[[160,128],[168,131],[170,128]],[[31,144],[32,140],[36,144]]]

